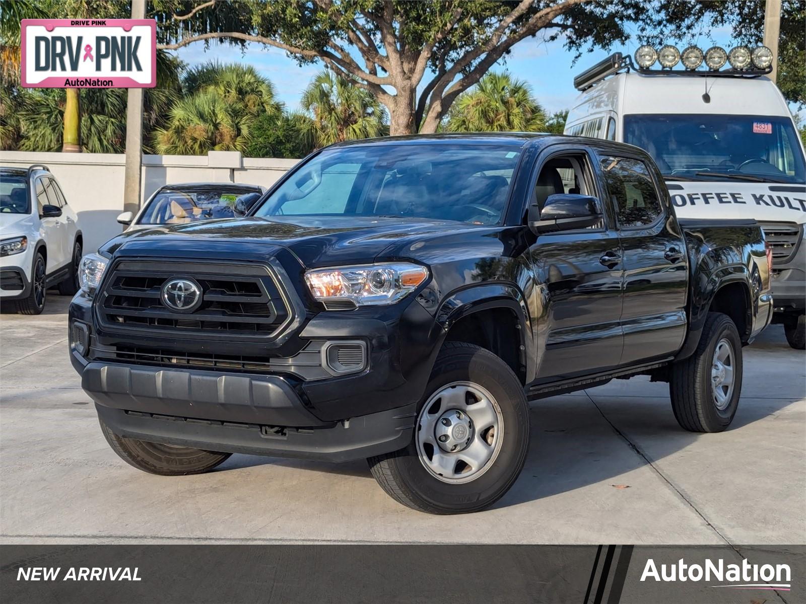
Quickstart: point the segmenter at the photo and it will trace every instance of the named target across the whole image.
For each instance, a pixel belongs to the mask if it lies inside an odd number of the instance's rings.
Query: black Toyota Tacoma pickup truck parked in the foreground
[[[121,234],[81,283],[70,356],[131,465],[364,457],[436,514],[513,485],[531,399],[648,374],[724,430],[772,308],[754,221],[678,221],[645,152],[545,134],[327,147],[246,217]]]

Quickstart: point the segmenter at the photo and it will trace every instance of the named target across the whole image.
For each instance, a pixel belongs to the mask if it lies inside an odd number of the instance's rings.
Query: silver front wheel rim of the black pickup
[[[471,482],[498,457],[504,417],[496,399],[476,383],[453,382],[436,391],[417,420],[417,452],[442,482]]]

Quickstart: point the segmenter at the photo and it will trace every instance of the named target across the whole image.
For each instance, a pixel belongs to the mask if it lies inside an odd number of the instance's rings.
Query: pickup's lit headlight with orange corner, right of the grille
[[[427,278],[428,269],[413,263],[318,268],[305,273],[311,295],[328,310],[394,304]]]

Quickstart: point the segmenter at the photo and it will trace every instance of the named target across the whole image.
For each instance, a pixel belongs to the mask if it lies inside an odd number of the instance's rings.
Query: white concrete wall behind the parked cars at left
[[[236,182],[268,187],[297,161],[242,158],[238,151],[210,151],[209,155],[143,155],[141,203],[164,184]],[[123,230],[115,218],[123,212],[125,155],[0,151],[0,166],[27,168],[33,163],[44,163],[50,168],[64,197],[78,213],[85,251],[97,250]]]

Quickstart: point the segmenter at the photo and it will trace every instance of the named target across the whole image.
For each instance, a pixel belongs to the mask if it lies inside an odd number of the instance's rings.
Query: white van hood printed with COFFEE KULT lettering
[[[752,218],[806,222],[806,187],[800,184],[667,181],[680,218]]]

